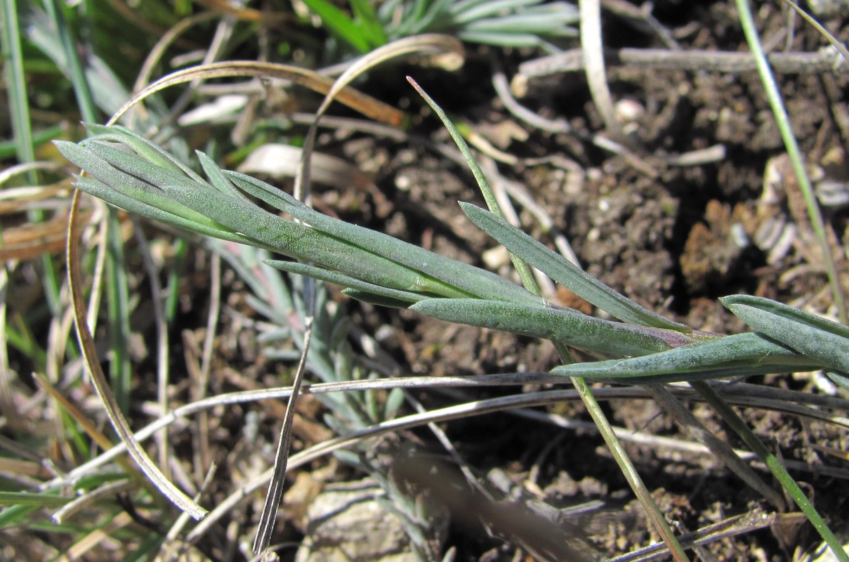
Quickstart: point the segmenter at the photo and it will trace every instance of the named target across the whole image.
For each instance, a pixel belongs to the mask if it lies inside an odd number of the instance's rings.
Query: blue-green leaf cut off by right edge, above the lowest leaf
[[[730,295],[719,301],[734,316],[824,367],[849,374],[849,329],[757,296]]]

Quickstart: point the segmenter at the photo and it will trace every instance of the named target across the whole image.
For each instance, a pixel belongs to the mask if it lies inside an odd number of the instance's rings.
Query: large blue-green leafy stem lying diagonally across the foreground
[[[458,140],[486,199],[491,200],[486,180],[453,125],[430,98],[425,95],[425,99]],[[518,258],[520,271],[525,272],[525,289],[384,233],[325,216],[256,178],[219,169],[200,152],[206,179],[124,127],[88,128],[91,138],[56,144],[68,160],[86,171],[77,186],[112,205],[194,233],[295,258],[297,261],[268,263],[285,272],[340,284],[347,295],[363,301],[407,307],[447,322],[552,340],[566,362],[552,373],[572,377],[579,391],[587,395],[586,379],[639,385],[689,382],[773,471],[835,554],[849,560],[784,467],[706,382],[824,369],[836,383],[849,387],[849,357],[843,351],[849,343],[849,329],[775,301],[732,295],[724,297],[722,304],[756,331],[700,333],[650,312],[589,277],[497,212],[460,203],[475,225]],[[246,195],[290,218],[263,210]],[[497,211],[496,206],[491,208]],[[525,263],[621,322],[543,301],[535,294],[532,281],[528,282]],[[568,347],[599,360],[569,363]],[[670,548],[674,551],[675,544]]]

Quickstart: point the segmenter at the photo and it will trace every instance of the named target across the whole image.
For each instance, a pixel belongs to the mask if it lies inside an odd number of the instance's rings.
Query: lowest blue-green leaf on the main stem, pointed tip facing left
[[[637,385],[817,368],[822,368],[817,361],[802,357],[763,334],[749,332],[699,341],[643,357],[562,365],[551,372]]]

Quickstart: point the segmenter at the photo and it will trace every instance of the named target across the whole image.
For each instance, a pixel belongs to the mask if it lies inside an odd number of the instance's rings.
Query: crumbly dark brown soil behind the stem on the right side
[[[791,19],[789,24],[787,10],[778,4],[758,9],[762,37],[774,48],[809,52],[824,45],[824,39],[801,20]],[[684,49],[746,50],[729,3],[659,2],[654,13]],[[610,48],[663,47],[656,37],[608,15],[605,37]],[[845,18],[826,20],[825,24],[841,40],[849,40]],[[514,164],[498,163],[498,173],[526,186],[533,199],[548,210],[589,273],[655,311],[694,328],[720,333],[745,329],[722,309],[717,301],[721,295],[748,293],[819,311],[828,309],[830,296],[822,263],[811,250],[809,223],[796,205],[798,187],[787,173],[786,162],[777,158],[783,145],[755,72],[611,66],[608,78],[614,98],[638,110],[633,136],[644,156],[638,156],[635,165],[633,160],[610,155],[575,135],[544,132],[523,123],[516,126],[517,121],[493,92],[489,76],[496,65],[512,76],[528,54],[480,48],[455,76],[437,71],[411,73],[458,120],[518,157]],[[818,183],[846,182],[846,72],[779,74],[777,79]],[[381,74],[376,80],[385,85],[387,76]],[[368,85],[364,89],[368,91]],[[419,104],[404,87],[399,87],[396,95],[400,104]],[[584,135],[603,130],[581,74],[533,80],[520,103],[548,119],[566,120]],[[329,147],[336,146],[374,173],[374,186],[356,194],[329,191],[323,195],[325,205],[343,218],[482,266],[481,256],[494,244],[464,220],[454,203],[481,204],[480,195],[464,166],[433,148],[432,143],[450,145],[450,141],[428,112],[422,114],[414,127],[424,136],[421,143],[413,140],[399,147],[381,140],[329,140]],[[514,129],[522,132],[515,135],[518,139],[509,136]],[[725,149],[720,160],[698,166],[663,163],[666,157],[717,144]],[[575,162],[579,171],[527,163],[527,159],[553,155]],[[845,207],[835,205],[825,212],[845,275]],[[521,217],[529,232],[550,241],[531,216],[521,213]],[[770,221],[796,227],[795,241],[783,252],[762,240],[764,224]],[[569,295],[561,293],[559,297],[566,304],[576,304]],[[578,303],[583,305],[586,303]],[[547,343],[447,326],[412,312],[355,303],[345,306],[354,321],[371,333],[391,326],[391,335],[381,343],[408,373],[537,371],[556,364],[556,355]],[[751,382],[812,389],[810,378],[789,375]],[[430,407],[450,402],[432,393],[423,399]],[[684,437],[653,402],[621,400],[611,402],[609,408],[614,423],[630,430]],[[694,405],[693,409],[718,435],[740,445],[708,408]],[[582,408],[572,405],[557,413],[588,419]],[[811,447],[816,443],[839,448],[845,441],[843,431],[782,413],[742,413],[758,435],[786,458],[803,460],[812,467],[846,468],[843,461]],[[631,502],[631,492],[609,453],[592,432],[559,430],[506,414],[453,422],[446,430],[481,479],[492,469],[503,470],[514,486],[528,494],[529,490],[536,492],[537,499],[557,508],[599,500],[602,507],[577,516],[576,521],[606,555],[656,540],[640,509]],[[424,431],[416,432],[415,439],[433,441]],[[556,447],[550,447],[553,440]],[[426,447],[440,450],[434,444]],[[649,489],[655,490],[668,517],[678,521],[682,531],[731,514],[771,509],[711,458],[653,446],[631,446],[631,450]],[[846,481],[818,475],[816,468],[813,473],[795,474],[826,518],[837,529],[844,528]],[[458,546],[457,559],[509,560],[517,559],[521,552],[515,543],[486,537],[481,528],[471,533],[457,526],[451,530],[447,545]],[[713,542],[700,558],[784,560],[815,542],[818,538],[807,525],[773,525],[771,530]]]

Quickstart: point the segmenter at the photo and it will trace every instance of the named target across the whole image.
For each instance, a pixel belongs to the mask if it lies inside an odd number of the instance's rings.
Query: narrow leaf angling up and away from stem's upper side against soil
[[[460,208],[478,228],[498,240],[505,248],[520,256],[533,267],[570,289],[585,301],[598,306],[614,318],[623,322],[671,329],[684,334],[693,330],[684,324],[672,322],[636,302],[620,295],[598,279],[591,277],[571,261],[560,256],[554,250],[523,233],[509,222],[487,212],[476,205],[460,202]]]

